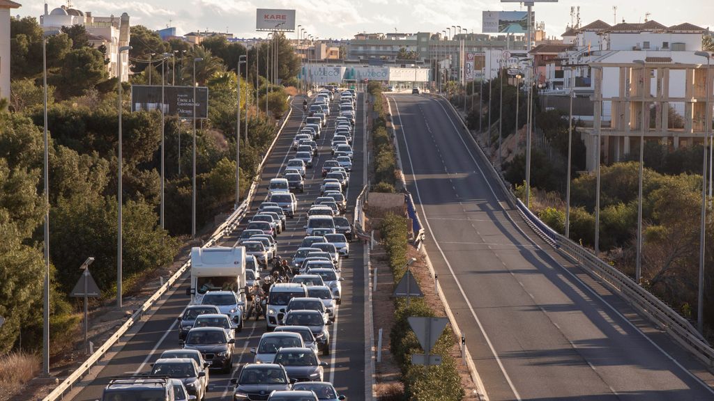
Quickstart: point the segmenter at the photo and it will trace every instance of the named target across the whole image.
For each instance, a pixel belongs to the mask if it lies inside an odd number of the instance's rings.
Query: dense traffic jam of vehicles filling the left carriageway
[[[342,260],[355,238],[346,211],[356,98],[353,89],[327,86],[303,102],[290,153],[265,200],[243,218],[236,246],[191,250],[191,303],[178,316],[179,346],[162,352],[141,378],[111,380],[103,400],[165,400],[147,397],[160,387],[171,400],[205,400],[211,375],[229,375],[233,400],[346,399],[326,369]],[[285,247],[296,249],[278,250],[286,230],[304,237]],[[261,320],[265,330],[246,355],[237,344],[250,320],[253,331]],[[142,395],[131,387],[142,387]]]

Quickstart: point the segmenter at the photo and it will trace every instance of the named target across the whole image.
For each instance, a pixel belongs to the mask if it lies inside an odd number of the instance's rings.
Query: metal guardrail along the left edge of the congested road
[[[290,99],[288,98],[288,101],[289,100]],[[258,183],[260,182],[259,177],[263,172],[263,166],[265,166],[265,163],[268,160],[268,156],[270,156],[270,154],[272,153],[273,147],[275,146],[275,143],[278,141],[278,138],[283,132],[283,128],[285,128],[286,123],[290,119],[292,112],[293,108],[290,107],[288,115],[284,118],[283,124],[278,129],[278,132],[276,133],[275,138],[273,138],[273,142],[268,148],[268,151],[266,151],[266,156],[263,156],[263,160],[258,166],[258,173],[256,174],[256,179],[254,179],[253,183],[251,183],[251,188],[248,190],[248,195],[246,196],[246,198],[243,199],[241,205],[239,205],[238,208],[236,208],[236,210],[234,210],[233,213],[231,213],[231,215],[226,218],[226,221],[224,221],[221,225],[218,226],[218,229],[213,232],[211,238],[209,238],[208,241],[206,241],[206,243],[203,244],[201,248],[209,248],[215,245],[218,240],[220,240],[224,235],[231,233],[233,230],[238,228],[238,223],[240,223],[241,219],[248,211],[248,207],[251,204],[251,201],[253,200],[253,195],[255,195],[256,188],[258,187]],[[139,309],[136,310],[129,317],[129,319],[127,319],[126,322],[124,322],[124,324],[121,325],[121,327],[119,327],[119,329],[117,329],[116,332],[104,342],[104,344],[101,345],[101,347],[99,347],[92,355],[89,355],[86,361],[84,361],[76,370],[74,370],[71,375],[66,377],[66,379],[63,380],[57,387],[55,387],[54,390],[49,393],[49,395],[44,397],[42,401],[55,401],[64,398],[65,392],[71,390],[72,387],[76,384],[76,382],[78,382],[79,380],[81,380],[82,377],[88,374],[91,370],[91,367],[96,365],[96,363],[99,362],[99,360],[101,360],[104,355],[106,355],[106,352],[109,352],[111,347],[113,347],[117,342],[119,342],[119,339],[122,335],[126,334],[126,332],[129,331],[129,329],[136,323],[139,323],[141,318],[144,317],[144,314],[149,311],[152,306],[154,306],[154,303],[156,303],[156,301],[159,300],[162,295],[164,295],[171,287],[173,287],[174,284],[181,278],[181,275],[183,275],[183,273],[186,273],[186,271],[190,267],[191,260],[189,259],[188,261],[186,261],[186,263],[183,263],[183,265],[181,265],[181,268],[176,270],[176,273],[174,273],[174,275],[171,275],[171,278],[169,278],[169,280],[166,280],[166,283],[164,283],[164,285],[161,285],[161,287],[159,287],[159,290],[156,290],[156,293],[154,293],[154,295],[151,295],[151,297],[146,300],[146,302],[141,305],[141,307],[139,307]]]

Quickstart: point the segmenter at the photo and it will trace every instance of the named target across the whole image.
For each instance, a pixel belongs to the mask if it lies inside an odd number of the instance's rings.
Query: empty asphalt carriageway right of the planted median
[[[426,247],[491,401],[714,400],[703,365],[508,208],[446,103],[390,99]]]

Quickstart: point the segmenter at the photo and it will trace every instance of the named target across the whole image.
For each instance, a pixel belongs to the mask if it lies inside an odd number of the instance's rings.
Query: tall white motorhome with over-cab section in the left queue
[[[246,249],[242,246],[191,248],[192,304],[200,304],[206,291],[232,290],[245,303]]]

